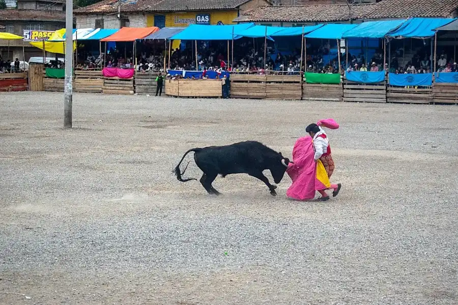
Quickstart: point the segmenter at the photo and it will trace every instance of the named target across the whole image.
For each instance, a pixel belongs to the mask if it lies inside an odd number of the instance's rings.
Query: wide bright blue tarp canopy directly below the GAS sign
[[[254,23],[243,23],[236,25],[201,25],[190,24],[180,33],[170,37],[170,39],[180,40],[232,40],[239,39],[235,35],[244,29],[254,26]],[[233,35],[234,33],[234,35]],[[264,37],[264,35],[263,35]]]

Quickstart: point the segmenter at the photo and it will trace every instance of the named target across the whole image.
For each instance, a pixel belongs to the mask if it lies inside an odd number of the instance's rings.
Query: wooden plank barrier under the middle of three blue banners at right
[[[433,89],[387,87],[386,96],[388,103],[430,104],[433,102]]]

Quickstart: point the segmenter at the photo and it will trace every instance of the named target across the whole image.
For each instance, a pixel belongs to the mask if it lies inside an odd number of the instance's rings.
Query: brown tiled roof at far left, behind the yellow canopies
[[[65,12],[51,10],[0,10],[0,21],[9,20],[36,20],[36,21],[63,21],[65,22]]]

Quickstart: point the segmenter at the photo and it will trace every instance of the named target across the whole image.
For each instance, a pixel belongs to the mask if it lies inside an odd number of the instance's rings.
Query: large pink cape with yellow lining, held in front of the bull
[[[299,138],[294,144],[293,148],[293,161],[294,164],[290,163],[287,169],[288,175],[290,175],[293,184],[287,191],[287,196],[296,200],[307,200],[315,197],[315,191],[325,190],[329,187],[329,179],[325,175],[325,179],[322,175],[321,181],[317,177],[317,167],[321,166],[324,170],[323,164],[320,164],[313,160],[313,140],[310,136]],[[326,181],[327,179],[327,181]],[[328,184],[326,187],[325,184]]]

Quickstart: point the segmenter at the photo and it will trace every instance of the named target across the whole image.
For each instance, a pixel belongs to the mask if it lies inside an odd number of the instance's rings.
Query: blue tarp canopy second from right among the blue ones
[[[342,38],[383,38],[406,20],[368,21],[358,24],[342,35]]]

